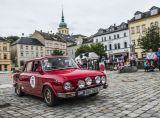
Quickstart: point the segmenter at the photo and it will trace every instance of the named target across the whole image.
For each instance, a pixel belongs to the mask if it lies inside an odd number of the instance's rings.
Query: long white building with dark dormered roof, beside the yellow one
[[[94,35],[94,43],[102,43],[105,46],[106,54],[119,57],[121,54],[130,53],[130,39],[127,23],[119,26],[113,25],[108,29],[99,29]]]

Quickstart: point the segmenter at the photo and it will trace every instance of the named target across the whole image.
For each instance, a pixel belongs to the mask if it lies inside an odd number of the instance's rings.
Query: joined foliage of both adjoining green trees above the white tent
[[[91,44],[90,46],[82,45],[80,48],[77,49],[75,56],[86,52],[95,52],[97,55],[103,56],[105,55],[104,45],[101,43]]]

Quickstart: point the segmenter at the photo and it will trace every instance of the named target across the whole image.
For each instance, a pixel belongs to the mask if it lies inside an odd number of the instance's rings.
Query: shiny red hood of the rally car
[[[81,69],[64,69],[64,70],[53,70],[47,72],[49,75],[57,76],[58,78],[64,78],[67,80],[80,79],[93,76],[102,76],[103,72],[95,70],[81,70]]]

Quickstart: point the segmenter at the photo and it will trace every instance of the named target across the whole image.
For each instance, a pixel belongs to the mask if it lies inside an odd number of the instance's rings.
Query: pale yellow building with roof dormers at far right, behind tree
[[[129,20],[129,32],[132,45],[138,58],[143,58],[145,52],[140,49],[138,39],[145,33],[146,29],[152,25],[160,26],[160,8],[153,6],[147,12],[137,11],[134,17]]]

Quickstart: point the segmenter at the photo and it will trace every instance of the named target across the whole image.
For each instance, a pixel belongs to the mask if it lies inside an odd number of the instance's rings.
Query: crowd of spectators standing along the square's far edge
[[[138,59],[134,53],[130,53],[130,55],[124,53],[118,57],[110,55],[109,57],[102,56],[97,60],[84,59],[81,63],[78,62],[77,64],[83,69],[101,70],[101,68],[104,68],[109,70],[118,70],[122,69],[124,66],[137,66],[137,60]],[[152,49],[149,49],[146,53],[145,63],[146,66],[158,67],[160,70],[160,48],[157,52],[153,52]]]

